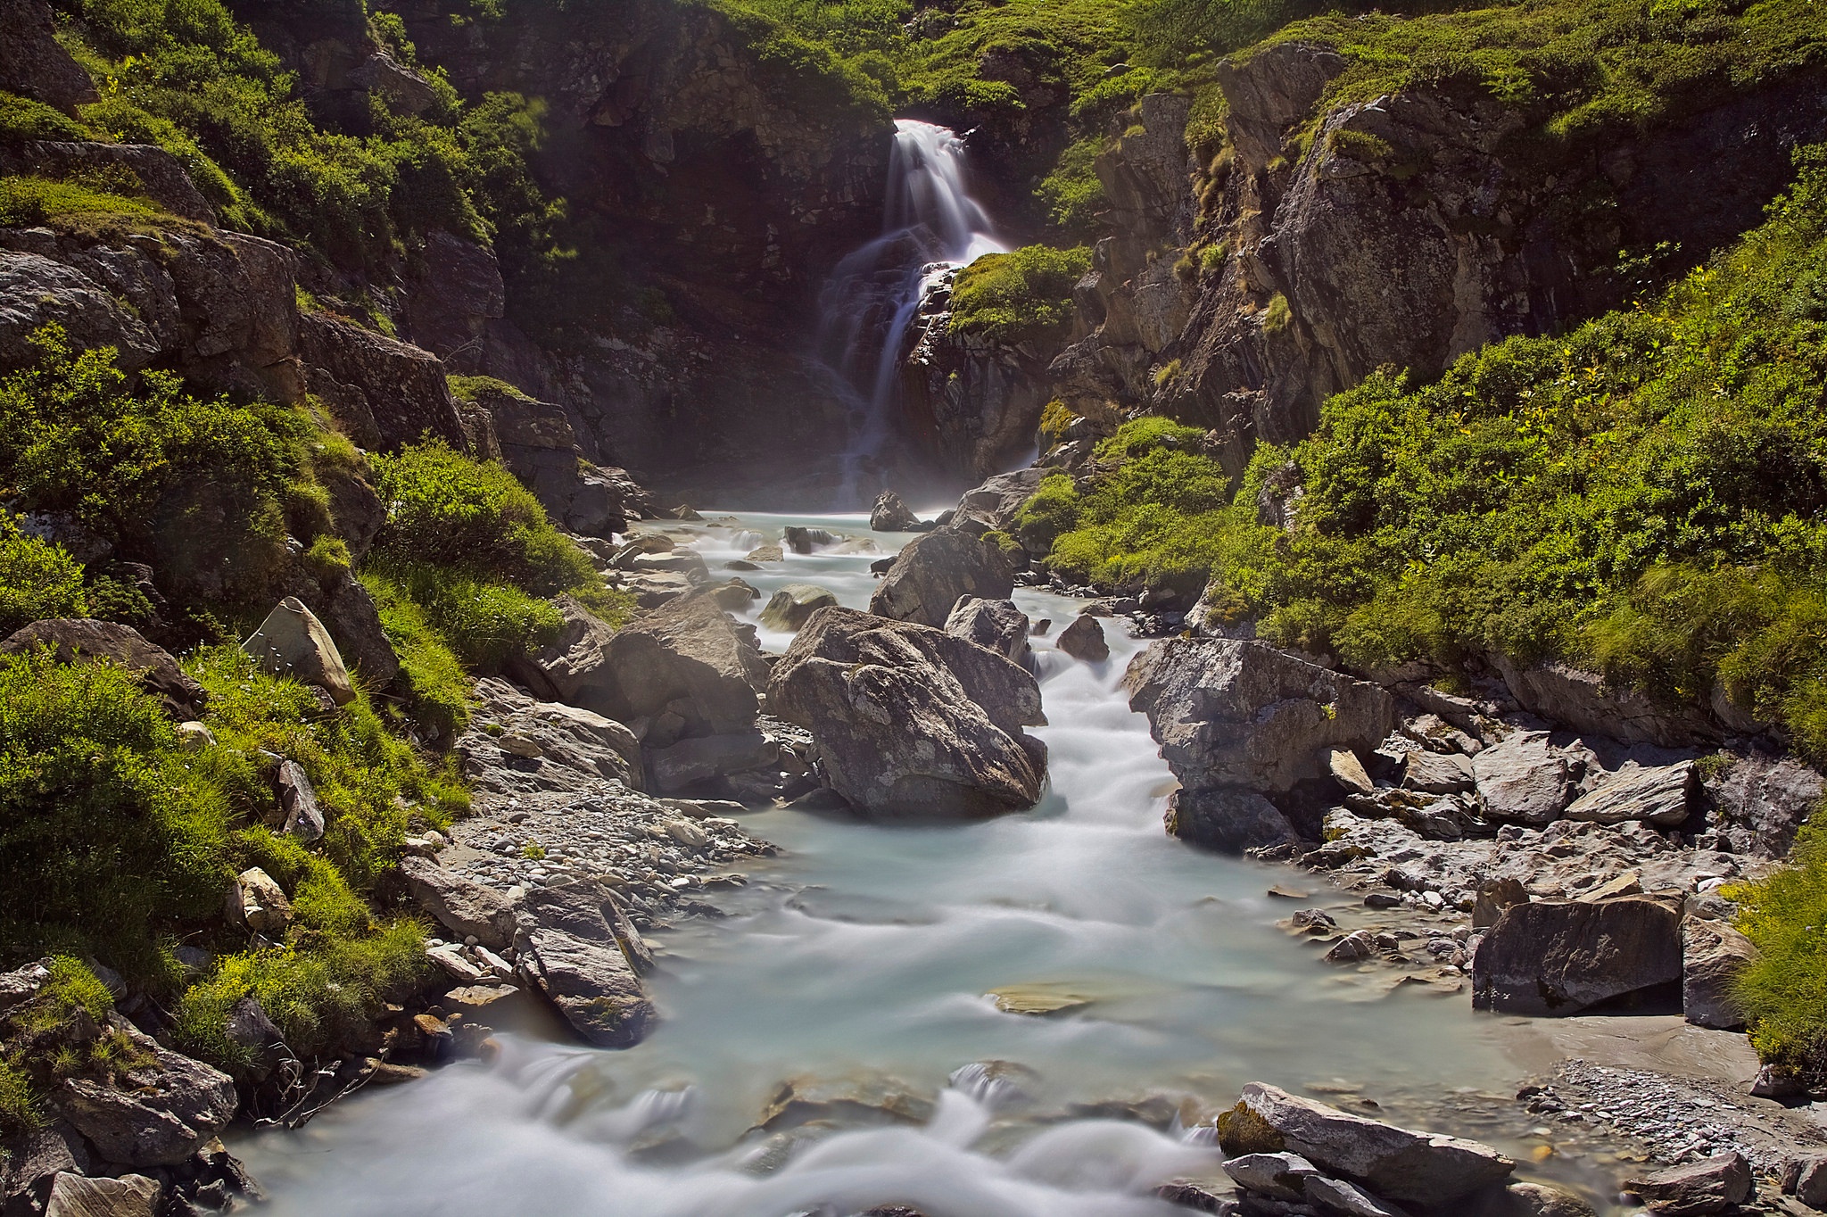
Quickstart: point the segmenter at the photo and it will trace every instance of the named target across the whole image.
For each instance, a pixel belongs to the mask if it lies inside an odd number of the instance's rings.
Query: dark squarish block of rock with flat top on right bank
[[[1513,905],[1473,956],[1473,1005],[1504,1014],[1579,1014],[1679,981],[1681,914],[1650,895]]]

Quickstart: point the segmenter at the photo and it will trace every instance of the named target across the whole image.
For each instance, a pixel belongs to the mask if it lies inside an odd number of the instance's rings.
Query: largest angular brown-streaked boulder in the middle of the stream
[[[1030,808],[1047,746],[1040,685],[945,630],[820,608],[775,665],[767,709],[808,727],[831,789],[873,815]]]

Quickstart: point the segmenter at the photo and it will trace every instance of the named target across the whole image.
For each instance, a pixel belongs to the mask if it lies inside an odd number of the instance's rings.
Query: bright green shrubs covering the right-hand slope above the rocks
[[[1827,155],[1798,161],[1769,221],[1661,300],[1431,386],[1378,373],[1235,495],[1195,433],[1129,424],[1100,451],[1118,470],[1051,479],[1023,535],[1078,577],[1209,574],[1222,612],[1357,669],[1498,652],[1690,702],[1717,682],[1827,757]]]

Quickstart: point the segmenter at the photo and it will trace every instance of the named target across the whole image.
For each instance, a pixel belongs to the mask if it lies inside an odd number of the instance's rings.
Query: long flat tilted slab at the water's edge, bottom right
[[[1246,1085],[1242,1102],[1219,1116],[1219,1144],[1233,1155],[1294,1153],[1379,1197],[1418,1204],[1456,1201],[1516,1169],[1491,1146],[1412,1133],[1261,1082]]]

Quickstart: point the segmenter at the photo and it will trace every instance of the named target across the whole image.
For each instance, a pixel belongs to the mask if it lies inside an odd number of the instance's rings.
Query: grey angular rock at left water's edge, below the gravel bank
[[[605,912],[614,910],[614,912]],[[597,1047],[639,1043],[658,1014],[616,936],[627,917],[599,884],[535,888],[521,906],[515,968]]]

